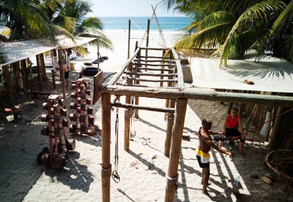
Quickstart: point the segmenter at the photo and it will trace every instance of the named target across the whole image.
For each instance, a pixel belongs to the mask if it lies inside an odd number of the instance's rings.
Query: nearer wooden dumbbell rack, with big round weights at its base
[[[68,155],[60,155],[63,151],[63,145],[66,145],[66,150],[75,149],[75,140],[68,140],[66,127],[70,126],[70,120],[63,119],[68,116],[69,111],[62,109],[66,102],[59,95],[52,95],[47,102],[43,103],[42,108],[48,111],[48,114],[41,116],[41,121],[48,122],[48,127],[41,129],[41,134],[49,136],[50,148],[45,147],[37,156],[38,163],[42,163],[45,167],[52,167],[62,170],[66,164]],[[60,113],[60,115],[58,115]],[[60,126],[62,124],[62,126]],[[65,144],[63,144],[62,136],[64,136]],[[54,139],[54,143],[53,143]]]

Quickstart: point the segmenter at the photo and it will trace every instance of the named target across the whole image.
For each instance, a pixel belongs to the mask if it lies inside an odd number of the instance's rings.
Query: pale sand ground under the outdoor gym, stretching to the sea
[[[115,52],[100,49],[102,56],[109,59],[100,64],[104,78],[115,73],[127,61],[128,32],[105,31],[113,41]],[[164,33],[167,47],[172,44],[173,32]],[[131,38],[142,38],[143,32],[131,32]],[[132,39],[130,55],[134,52],[135,41]],[[146,40],[142,47],[145,47]],[[151,32],[149,47],[159,47],[159,32]],[[86,61],[96,59],[96,48],[88,47],[90,54]],[[144,53],[142,53],[144,54]],[[149,51],[149,55],[151,52]],[[83,67],[83,59],[78,57],[72,60],[75,70],[70,71],[69,81],[78,77]],[[94,65],[95,67],[97,65]],[[56,78],[57,88],[53,89],[52,68],[47,69],[48,80],[43,82],[45,91],[52,91],[62,95],[62,84]],[[93,76],[83,76],[91,83],[93,90]],[[104,82],[110,81],[111,76]],[[143,83],[147,84],[147,82]],[[159,85],[159,84],[158,84]],[[166,85],[166,84],[164,84]],[[191,83],[185,83],[189,88]],[[29,90],[38,90],[38,85]],[[207,89],[207,91],[212,91]],[[66,88],[67,109],[73,102],[70,94],[71,87]],[[0,114],[0,201],[101,201],[101,136],[76,136],[67,130],[67,136],[76,140],[76,148],[69,152],[67,164],[63,170],[45,169],[36,161],[36,156],[42,148],[49,146],[47,136],[42,136],[40,130],[46,126],[40,117],[46,114],[42,110],[42,103],[47,101],[43,95],[32,98],[28,90],[13,94],[16,108],[21,109],[19,121],[13,121],[13,115]],[[125,102],[122,97],[121,102]],[[141,105],[164,107],[165,100],[140,98]],[[1,107],[9,107],[7,100],[0,100]],[[246,141],[243,151],[246,157],[239,152],[239,142],[232,145],[236,155],[234,161],[229,156],[212,149],[210,159],[211,175],[207,190],[210,196],[201,194],[201,169],[195,157],[198,146],[198,130],[201,120],[209,118],[213,121],[212,130],[222,131],[228,103],[207,102],[203,100],[188,100],[184,124],[184,135],[190,139],[183,139],[179,160],[178,189],[175,201],[293,201],[292,187],[280,177],[272,185],[265,184],[260,178],[252,179],[251,173],[258,173],[260,177],[265,173],[272,173],[263,167],[266,144],[264,138],[255,134],[255,141]],[[93,106],[96,110],[95,124],[101,128],[101,99]],[[111,201],[164,201],[169,159],[163,155],[166,136],[166,121],[161,112],[139,111],[139,119],[132,123],[132,131],[136,136],[130,142],[130,150],[123,149],[124,142],[124,109],[119,109],[119,164],[118,173],[120,182],[111,179]],[[70,113],[73,110],[70,109]],[[111,113],[111,164],[114,170],[115,162],[115,120],[116,109]],[[247,119],[243,118],[243,127]],[[253,128],[253,126],[250,126]],[[244,127],[244,130],[246,128]],[[247,138],[252,137],[249,133]],[[214,141],[214,140],[213,140]],[[217,141],[214,141],[218,144]],[[229,146],[224,144],[229,150]],[[240,177],[240,182],[247,195],[234,196],[229,179]]]

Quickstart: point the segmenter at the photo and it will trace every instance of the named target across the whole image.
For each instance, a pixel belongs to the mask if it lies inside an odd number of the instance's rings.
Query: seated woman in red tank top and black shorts
[[[231,109],[231,114],[227,115],[224,121],[224,133],[225,136],[240,136],[241,134],[243,134],[243,128],[242,128],[242,122],[241,122],[241,118],[238,117],[238,109],[236,107],[233,107]],[[239,124],[239,130],[241,132],[238,131],[237,129],[237,124]],[[220,143],[219,143],[219,148],[222,148],[222,145],[224,143],[224,135],[221,136],[220,138]],[[245,136],[241,136],[239,137],[240,143],[239,143],[239,153],[242,156],[245,156],[245,154],[242,152],[243,146],[244,146],[244,142],[245,142]]]

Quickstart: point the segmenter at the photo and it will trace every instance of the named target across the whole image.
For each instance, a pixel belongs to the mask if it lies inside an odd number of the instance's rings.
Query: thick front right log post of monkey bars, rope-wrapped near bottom
[[[166,177],[178,179],[178,163],[180,157],[180,149],[182,142],[182,134],[185,121],[185,113],[187,107],[186,99],[177,99],[176,103],[176,112],[174,117],[174,126],[172,132],[172,142],[171,142],[171,151],[169,157],[169,167],[168,174]],[[176,182],[172,183],[167,181],[166,191],[165,191],[165,201],[174,201],[176,191]]]

